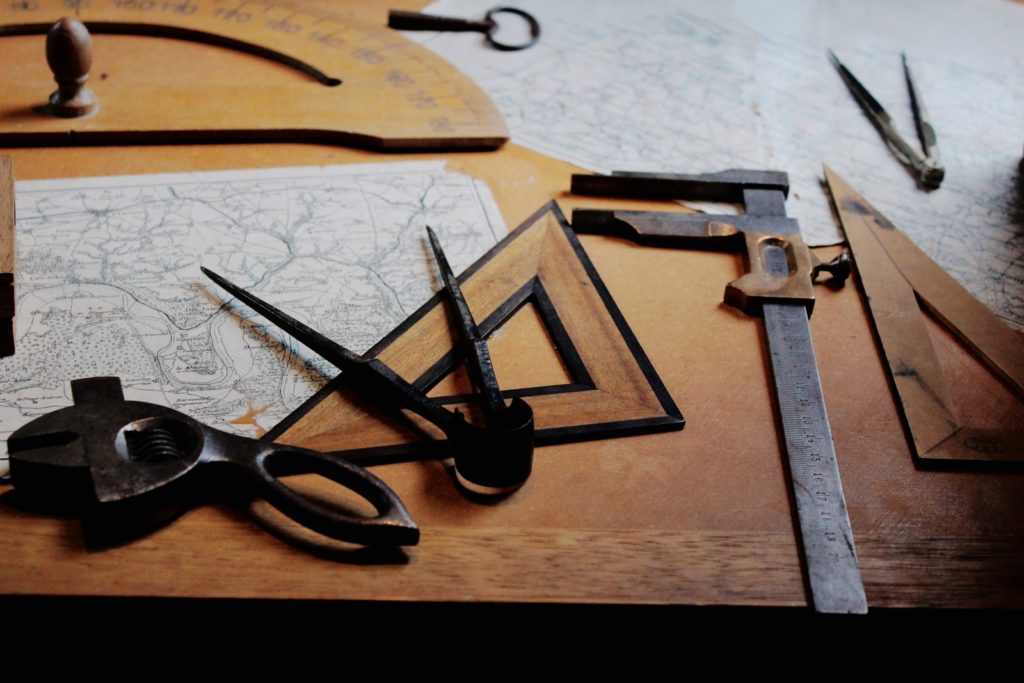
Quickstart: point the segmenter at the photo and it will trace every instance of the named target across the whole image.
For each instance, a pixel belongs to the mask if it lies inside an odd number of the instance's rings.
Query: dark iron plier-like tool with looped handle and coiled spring
[[[415,545],[420,531],[376,476],[329,454],[228,434],[163,405],[125,400],[116,377],[71,383],[75,404],[36,418],[7,441],[10,476],[25,500],[148,530],[201,494],[262,498],[324,536],[374,546]],[[315,473],[370,502],[350,514],[279,477]]]

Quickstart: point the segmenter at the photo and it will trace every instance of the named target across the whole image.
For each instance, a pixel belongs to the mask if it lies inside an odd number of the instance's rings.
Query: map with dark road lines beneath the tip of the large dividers
[[[440,163],[20,182],[16,211],[4,442],[71,404],[69,380],[99,375],[131,400],[259,436],[337,371],[200,265],[361,352],[438,288],[425,225],[457,272],[506,232],[486,186]]]

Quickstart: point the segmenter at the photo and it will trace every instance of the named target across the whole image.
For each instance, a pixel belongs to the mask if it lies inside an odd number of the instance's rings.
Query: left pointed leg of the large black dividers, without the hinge
[[[361,388],[361,393],[372,394],[368,397],[376,399],[379,403],[391,403],[407,408],[429,420],[445,434],[452,429],[453,422],[456,420],[453,413],[429,398],[380,360],[367,359],[353,353],[209,268],[201,267],[200,269],[207,278],[227,290],[231,296],[237,297],[284,332],[305,344],[310,350],[323,356],[325,360],[342,372],[352,373],[360,382],[358,386]]]

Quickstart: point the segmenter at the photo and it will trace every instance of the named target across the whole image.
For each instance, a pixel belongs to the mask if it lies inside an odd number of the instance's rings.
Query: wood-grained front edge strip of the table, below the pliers
[[[365,555],[356,553],[345,561],[346,553],[336,552],[332,560],[330,550],[327,557],[313,557],[289,545],[273,549],[280,561],[267,563],[264,530],[239,518],[227,524],[218,521],[187,531],[196,552],[174,553],[170,572],[155,572],[152,566],[158,555],[167,559],[168,545],[184,543],[165,537],[185,533],[180,527],[168,527],[126,547],[89,553],[78,547],[80,537],[76,541],[77,533],[69,533],[71,527],[51,521],[2,544],[7,547],[0,553],[0,575],[8,579],[2,593],[438,603],[806,604],[795,540],[786,532],[444,526],[431,528],[419,546],[404,551],[403,560],[381,560],[368,571]],[[293,530],[301,535],[301,529]],[[872,533],[857,541],[870,608],[1024,607],[1024,588],[1015,583],[1024,571],[1020,537],[914,535],[894,540]],[[16,558],[32,554],[31,546],[38,543],[62,547],[58,554],[63,561],[56,570],[18,577]],[[222,552],[204,554],[201,549],[211,544]],[[282,581],[274,567],[286,563],[292,567],[291,579]]]

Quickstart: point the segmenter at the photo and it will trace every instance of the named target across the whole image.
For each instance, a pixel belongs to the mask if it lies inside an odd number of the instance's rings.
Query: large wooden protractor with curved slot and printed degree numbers
[[[505,142],[505,122],[475,83],[383,22],[369,23],[359,7],[4,2],[0,145],[290,140],[439,150]],[[80,19],[93,38],[87,85],[99,108],[82,118],[45,111],[56,89],[45,34],[62,16]]]

